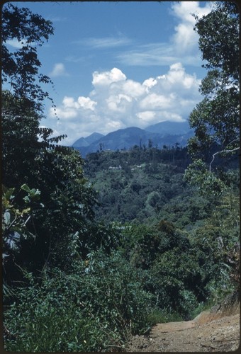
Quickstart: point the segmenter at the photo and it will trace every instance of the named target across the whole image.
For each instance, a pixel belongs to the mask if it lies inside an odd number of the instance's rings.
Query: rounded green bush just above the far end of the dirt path
[[[162,253],[153,263],[150,285],[159,309],[169,308],[187,320],[201,297],[201,268],[190,251],[174,248]]]

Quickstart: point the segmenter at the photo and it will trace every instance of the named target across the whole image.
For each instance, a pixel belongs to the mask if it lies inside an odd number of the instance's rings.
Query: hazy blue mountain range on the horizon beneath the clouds
[[[163,145],[172,146],[179,143],[185,146],[187,140],[194,135],[193,130],[189,127],[189,122],[159,122],[155,125],[149,125],[144,129],[138,127],[128,127],[102,135],[94,132],[89,137],[81,137],[72,145],[74,149],[79,150],[83,157],[90,152],[98,150],[130,149],[138,145],[138,147],[158,147]]]

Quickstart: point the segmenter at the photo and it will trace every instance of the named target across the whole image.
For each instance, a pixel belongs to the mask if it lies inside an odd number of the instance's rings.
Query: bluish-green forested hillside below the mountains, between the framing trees
[[[215,163],[223,171],[232,171],[238,188],[237,155]],[[185,181],[189,164],[187,149],[178,144],[87,155],[84,175],[98,190],[96,218],[147,224],[166,219],[178,227],[191,227],[209,215],[215,202]]]

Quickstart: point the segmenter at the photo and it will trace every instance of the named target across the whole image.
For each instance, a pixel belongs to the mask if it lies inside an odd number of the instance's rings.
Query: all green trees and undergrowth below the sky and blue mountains
[[[5,349],[123,351],[130,334],[239,292],[235,4],[196,18],[208,74],[188,146],[86,159],[40,127],[52,81],[37,49],[52,23],[12,4],[2,16]],[[23,47],[9,52],[14,38]]]

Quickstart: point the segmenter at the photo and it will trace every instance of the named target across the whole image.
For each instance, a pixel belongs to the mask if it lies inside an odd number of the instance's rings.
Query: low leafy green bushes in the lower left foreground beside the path
[[[109,351],[122,347],[130,333],[147,328],[151,296],[141,271],[120,256],[93,252],[73,273],[58,269],[26,287],[4,313],[11,351]]]

